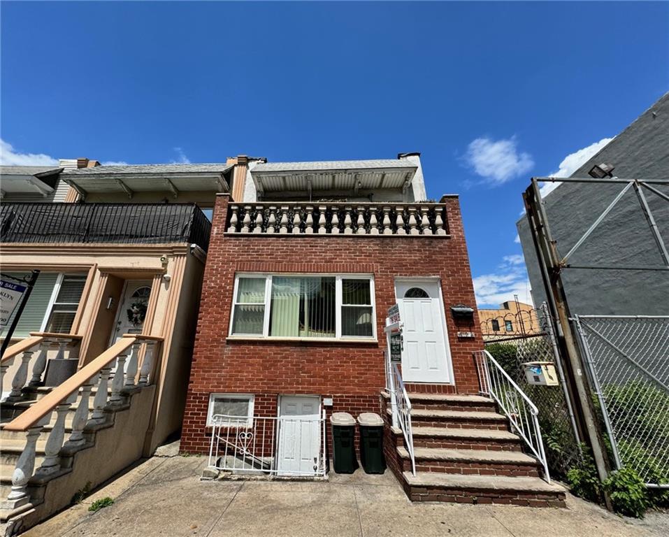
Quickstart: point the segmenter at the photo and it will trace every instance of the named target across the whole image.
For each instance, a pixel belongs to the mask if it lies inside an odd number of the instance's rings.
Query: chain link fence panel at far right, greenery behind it
[[[669,316],[576,315],[610,454],[647,485],[669,483]]]

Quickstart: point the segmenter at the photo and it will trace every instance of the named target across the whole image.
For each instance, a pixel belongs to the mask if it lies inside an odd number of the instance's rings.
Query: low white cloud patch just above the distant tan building
[[[532,303],[525,260],[521,255],[505,255],[496,272],[477,276],[473,282],[479,308],[498,308],[501,303],[513,300],[515,294],[519,301]]]

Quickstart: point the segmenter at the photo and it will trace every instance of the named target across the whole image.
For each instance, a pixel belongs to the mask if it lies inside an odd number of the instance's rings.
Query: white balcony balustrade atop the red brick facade
[[[445,236],[443,203],[249,203],[228,208],[229,234]]]

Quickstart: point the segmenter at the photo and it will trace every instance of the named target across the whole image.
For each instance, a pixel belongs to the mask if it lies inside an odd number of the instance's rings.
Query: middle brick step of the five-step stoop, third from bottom
[[[401,431],[396,436],[403,445]],[[447,427],[412,427],[415,447],[447,447],[456,450],[522,451],[520,438],[509,431]]]

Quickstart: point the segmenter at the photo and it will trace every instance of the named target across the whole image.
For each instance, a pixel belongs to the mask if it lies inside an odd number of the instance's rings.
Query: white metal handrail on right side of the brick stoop
[[[542,464],[545,480],[551,482],[537,407],[487,350],[477,350],[473,354],[481,392],[496,401],[515,432]]]

